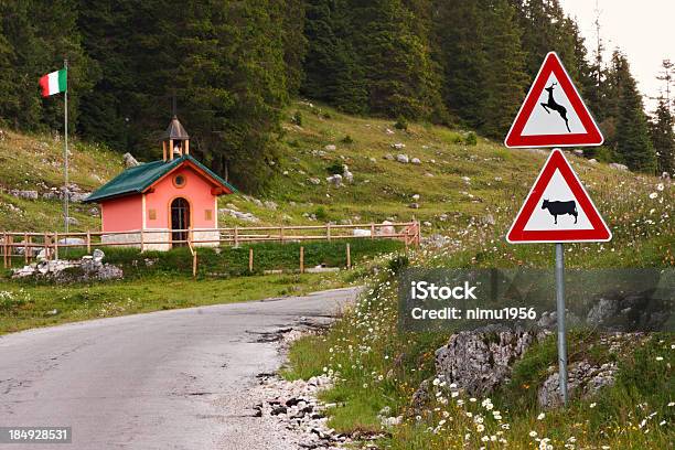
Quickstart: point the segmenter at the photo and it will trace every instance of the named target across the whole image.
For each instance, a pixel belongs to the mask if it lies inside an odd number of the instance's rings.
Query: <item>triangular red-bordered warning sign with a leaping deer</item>
[[[555,52],[546,55],[504,144],[600,146],[604,139]]]

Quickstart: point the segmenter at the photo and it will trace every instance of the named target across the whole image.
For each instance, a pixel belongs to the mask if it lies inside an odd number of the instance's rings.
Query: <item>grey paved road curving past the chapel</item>
[[[281,363],[266,333],[328,322],[355,289],[162,311],[0,336],[0,426],[71,426],[72,444],[280,448],[246,388]]]

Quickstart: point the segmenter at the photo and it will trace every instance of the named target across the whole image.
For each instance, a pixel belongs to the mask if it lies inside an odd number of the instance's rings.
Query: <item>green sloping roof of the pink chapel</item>
[[[190,154],[182,156],[172,161],[152,161],[143,164],[135,165],[121,172],[113,180],[94,191],[88,197],[84,200],[85,203],[100,202],[101,200],[129,195],[140,194],[146,189],[150,188],[156,181],[162,178],[164,174],[175,169],[184,161],[190,161],[201,170],[206,172],[214,181],[227,188],[232,192],[237,190],[216,175],[207,167],[192,158]]]

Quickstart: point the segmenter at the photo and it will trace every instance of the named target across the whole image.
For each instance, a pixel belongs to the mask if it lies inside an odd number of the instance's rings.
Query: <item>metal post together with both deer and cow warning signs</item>
[[[506,135],[508,148],[601,146],[600,129],[555,52],[546,55],[523,106]],[[560,397],[567,406],[565,249],[562,243],[607,242],[612,233],[560,149],[554,149],[525,199],[510,244],[556,245],[556,317]]]

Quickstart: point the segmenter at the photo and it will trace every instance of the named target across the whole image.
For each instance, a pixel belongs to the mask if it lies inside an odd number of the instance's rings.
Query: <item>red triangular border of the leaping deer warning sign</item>
[[[546,82],[553,73],[558,79],[558,84],[567,95],[569,103],[575,108],[581,125],[586,129],[583,133],[566,133],[566,135],[537,135],[537,136],[523,136],[523,129],[527,125],[527,120],[532,116],[532,111],[537,105],[537,101],[544,92]],[[521,106],[518,114],[516,115],[504,144],[508,148],[533,148],[533,147],[577,147],[577,146],[602,146],[604,137],[600,132],[596,120],[583,104],[579,92],[575,87],[571,78],[562,62],[556,54],[556,52],[548,52],[539,72],[535,77],[525,101]]]

